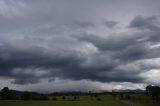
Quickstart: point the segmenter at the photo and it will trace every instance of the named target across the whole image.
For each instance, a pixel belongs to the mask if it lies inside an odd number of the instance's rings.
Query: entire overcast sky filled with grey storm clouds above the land
[[[159,0],[0,0],[0,88],[160,85]]]

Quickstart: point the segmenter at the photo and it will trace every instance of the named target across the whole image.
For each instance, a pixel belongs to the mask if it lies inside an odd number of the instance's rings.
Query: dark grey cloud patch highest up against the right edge
[[[149,30],[148,34],[146,34],[146,40],[150,42],[158,43],[160,40],[160,21],[158,16],[137,16],[130,23],[130,27],[139,30]]]

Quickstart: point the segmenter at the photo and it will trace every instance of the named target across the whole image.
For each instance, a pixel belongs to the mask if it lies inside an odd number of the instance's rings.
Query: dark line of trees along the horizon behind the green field
[[[28,91],[16,91],[10,90],[8,87],[4,87],[0,91],[0,100],[70,100],[70,101],[80,101],[82,95],[89,95],[91,100],[101,101],[100,95],[112,95],[114,99],[129,100],[134,99],[131,94],[137,92],[101,92],[93,93],[89,92],[61,92],[61,93],[50,93],[50,94],[40,94],[36,92]],[[143,93],[143,92],[142,92]],[[144,94],[144,93],[143,93]],[[160,100],[160,87],[148,85],[145,90],[145,94],[151,97],[153,100]],[[56,97],[57,96],[57,97]],[[60,97],[60,98],[58,98]],[[68,97],[68,98],[67,98]]]

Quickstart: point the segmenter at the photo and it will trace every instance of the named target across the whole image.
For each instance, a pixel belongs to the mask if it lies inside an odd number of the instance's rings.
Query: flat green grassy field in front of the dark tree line
[[[91,100],[90,96],[80,96],[80,101],[60,100],[58,101],[22,101],[22,100],[1,100],[0,106],[160,106],[157,102],[153,102],[144,95],[132,95],[134,99],[118,100],[113,99],[112,96],[100,96],[101,101],[96,99]],[[67,98],[71,98],[68,96]]]

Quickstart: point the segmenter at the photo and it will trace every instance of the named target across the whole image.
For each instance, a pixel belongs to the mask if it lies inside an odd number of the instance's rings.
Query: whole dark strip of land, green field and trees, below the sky
[[[5,87],[0,92],[0,106],[160,106],[159,90],[149,85],[146,92],[39,94]]]

